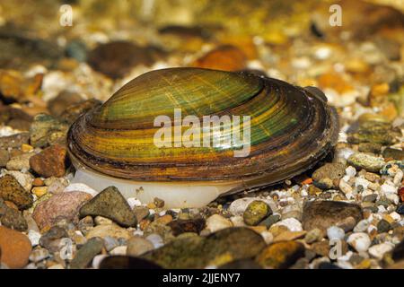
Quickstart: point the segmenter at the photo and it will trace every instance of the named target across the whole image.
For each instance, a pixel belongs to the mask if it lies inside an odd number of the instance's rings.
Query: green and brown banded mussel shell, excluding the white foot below
[[[154,145],[154,118],[250,116],[250,154],[240,146]],[[224,126],[224,134],[232,133]],[[242,126],[243,128],[243,126]],[[241,128],[241,134],[242,134]],[[142,74],[68,133],[74,162],[116,178],[146,181],[239,180],[261,187],[302,173],[324,157],[338,135],[335,111],[317,92],[246,73],[170,68]]]

